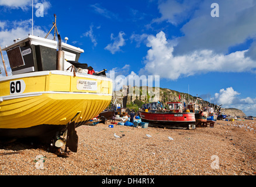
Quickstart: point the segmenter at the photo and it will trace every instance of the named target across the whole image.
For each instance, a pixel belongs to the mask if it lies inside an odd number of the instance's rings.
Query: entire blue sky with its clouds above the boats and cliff
[[[54,13],[62,39],[84,49],[79,62],[125,77],[160,75],[161,88],[189,86],[193,96],[256,116],[256,1],[34,0],[34,35],[46,35]],[[1,47],[29,33],[32,0],[0,0]]]

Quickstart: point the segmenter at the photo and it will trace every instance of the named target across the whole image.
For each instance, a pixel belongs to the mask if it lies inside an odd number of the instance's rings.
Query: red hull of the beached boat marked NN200
[[[196,123],[195,113],[172,113],[172,112],[142,112],[140,111],[141,122],[148,122],[158,126],[172,129],[194,129]]]

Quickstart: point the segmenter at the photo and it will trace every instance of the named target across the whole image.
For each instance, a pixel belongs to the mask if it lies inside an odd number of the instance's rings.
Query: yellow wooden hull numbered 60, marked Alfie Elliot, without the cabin
[[[41,71],[1,78],[0,137],[49,142],[69,122],[78,127],[99,115],[111,99],[111,79],[94,75]]]

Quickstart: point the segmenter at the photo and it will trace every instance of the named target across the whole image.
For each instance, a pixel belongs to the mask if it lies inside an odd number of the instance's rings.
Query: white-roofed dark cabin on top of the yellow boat
[[[7,53],[13,75],[56,70],[58,41],[29,35],[2,50]],[[78,61],[80,54],[84,53],[84,50],[63,42],[61,50],[64,58],[71,61]],[[71,65],[64,60],[64,71]]]

